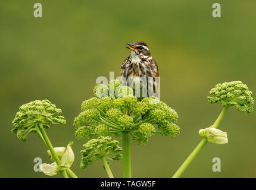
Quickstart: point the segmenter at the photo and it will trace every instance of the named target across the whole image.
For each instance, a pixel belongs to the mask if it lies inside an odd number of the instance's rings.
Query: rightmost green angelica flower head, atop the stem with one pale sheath
[[[252,92],[241,81],[217,84],[210,90],[210,94],[213,95],[207,97],[210,103],[220,102],[224,107],[235,106],[239,112],[252,113],[253,111]]]

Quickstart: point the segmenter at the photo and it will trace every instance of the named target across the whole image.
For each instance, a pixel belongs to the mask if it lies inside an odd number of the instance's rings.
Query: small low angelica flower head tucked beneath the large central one
[[[80,166],[82,169],[89,164],[93,164],[96,160],[105,157],[107,160],[120,160],[122,148],[118,146],[117,140],[111,140],[111,137],[99,137],[97,139],[89,140],[83,145],[80,151],[82,155]]]

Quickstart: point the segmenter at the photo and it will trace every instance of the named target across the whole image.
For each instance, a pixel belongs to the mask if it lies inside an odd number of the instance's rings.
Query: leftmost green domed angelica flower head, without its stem
[[[21,141],[27,140],[27,134],[38,132],[38,125],[43,128],[50,128],[50,124],[65,124],[64,116],[60,116],[61,109],[58,109],[49,100],[35,100],[20,106],[13,120],[14,129],[11,132],[17,133]]]

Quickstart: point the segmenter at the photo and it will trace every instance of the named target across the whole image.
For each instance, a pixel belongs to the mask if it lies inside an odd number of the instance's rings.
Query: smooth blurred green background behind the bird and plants
[[[33,5],[42,3],[43,18]],[[73,140],[71,167],[83,178],[106,178],[101,162],[80,169],[85,141],[74,137],[73,119],[92,97],[99,76],[120,75],[129,55],[127,42],[148,43],[161,76],[161,100],[179,114],[180,136],[155,135],[145,147],[132,143],[135,178],[170,178],[199,143],[198,130],[213,124],[221,111],[206,97],[217,83],[241,80],[256,94],[256,1],[1,1],[0,5],[0,177],[47,178],[34,172],[33,159],[50,163],[37,135],[21,143],[11,134],[18,107],[49,99],[63,110],[65,126],[46,132],[55,147]],[[256,128],[252,115],[230,109],[219,126],[229,143],[208,143],[183,178],[255,178]],[[221,172],[211,160],[221,159]],[[112,163],[120,178],[121,162]],[[60,176],[55,176],[60,177]]]

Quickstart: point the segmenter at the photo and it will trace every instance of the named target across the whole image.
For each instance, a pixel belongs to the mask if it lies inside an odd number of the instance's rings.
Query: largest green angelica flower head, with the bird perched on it
[[[108,87],[96,85],[94,94],[82,103],[82,112],[74,119],[79,140],[127,132],[133,141],[143,145],[154,134],[171,138],[179,135],[177,113],[156,97],[138,101],[132,88],[118,80],[111,81]]]

